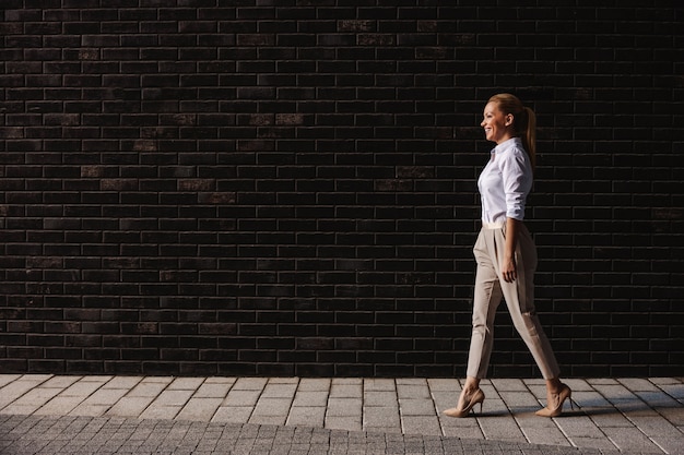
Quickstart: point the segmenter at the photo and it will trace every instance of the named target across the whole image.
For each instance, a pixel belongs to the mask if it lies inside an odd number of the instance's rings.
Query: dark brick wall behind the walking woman
[[[684,374],[684,10],[595,3],[2,0],[0,369],[462,376],[512,91],[565,375]]]

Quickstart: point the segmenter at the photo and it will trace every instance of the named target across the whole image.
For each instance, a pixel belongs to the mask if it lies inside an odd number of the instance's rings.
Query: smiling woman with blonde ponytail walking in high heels
[[[450,417],[465,417],[476,404],[482,409],[480,380],[487,372],[494,315],[502,299],[546,380],[547,404],[536,415],[559,416],[563,403],[571,395],[558,379],[558,363],[534,311],[536,250],[522,223],[532,188],[535,125],[532,109],[514,95],[495,95],[484,108],[481,127],[496,147],[477,180],[483,226],[473,249],[477,262],[473,331],[465,385],[456,408],[444,411]]]

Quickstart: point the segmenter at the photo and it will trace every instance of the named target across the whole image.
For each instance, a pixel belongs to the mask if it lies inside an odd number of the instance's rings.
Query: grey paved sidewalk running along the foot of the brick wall
[[[448,379],[0,374],[0,454],[684,454],[684,380],[491,380],[452,419]]]

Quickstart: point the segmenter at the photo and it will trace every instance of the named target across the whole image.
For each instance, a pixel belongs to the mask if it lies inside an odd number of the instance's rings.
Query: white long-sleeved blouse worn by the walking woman
[[[490,163],[477,179],[482,221],[522,220],[532,179],[532,164],[520,137],[509,139],[494,147]]]

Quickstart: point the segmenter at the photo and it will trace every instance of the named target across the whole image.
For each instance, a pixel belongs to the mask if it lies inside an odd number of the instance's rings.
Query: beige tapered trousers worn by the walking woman
[[[477,262],[473,299],[473,333],[468,357],[468,375],[486,376],[494,342],[494,316],[502,299],[506,301],[516,330],[527,344],[544,379],[558,378],[561,370],[534,310],[536,248],[524,225],[516,248],[518,278],[506,283],[500,276],[500,256],[506,244],[506,225],[485,226],[473,253]]]

